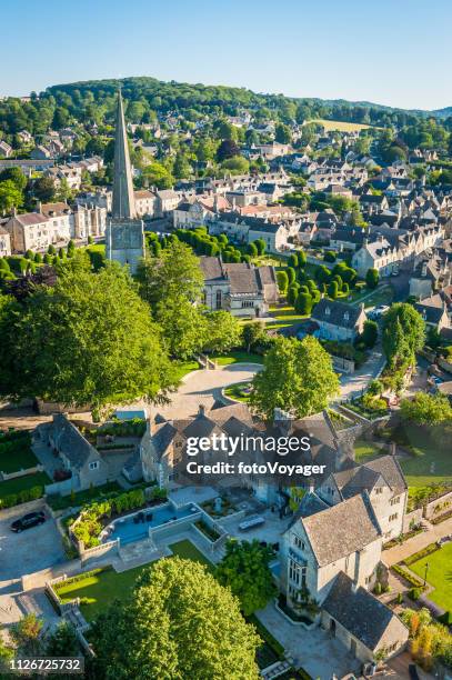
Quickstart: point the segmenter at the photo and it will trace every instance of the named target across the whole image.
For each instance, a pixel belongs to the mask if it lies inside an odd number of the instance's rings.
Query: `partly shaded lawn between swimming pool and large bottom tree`
[[[190,541],[180,541],[170,546],[174,554],[188,560],[194,560],[212,568],[211,562],[198,550]],[[97,616],[104,611],[114,600],[123,600],[129,597],[138,577],[150,564],[142,564],[118,573],[114,569],[106,569],[86,579],[68,583],[58,588],[58,594],[62,602],[68,602],[74,598],[83,598],[80,606],[87,621],[92,621]]]

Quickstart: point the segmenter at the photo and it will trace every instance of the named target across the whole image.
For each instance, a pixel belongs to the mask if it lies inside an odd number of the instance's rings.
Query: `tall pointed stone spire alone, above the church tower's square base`
[[[118,91],[117,130],[114,136],[113,218],[135,217],[132,170],[125,131],[121,90]]]

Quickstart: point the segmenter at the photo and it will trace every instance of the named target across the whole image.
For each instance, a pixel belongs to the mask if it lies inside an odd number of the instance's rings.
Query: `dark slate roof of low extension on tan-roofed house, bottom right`
[[[322,609],[371,651],[376,649],[390,623],[400,627],[402,640],[408,637],[405,626],[389,607],[365,588],[353,592],[353,581],[343,571],[339,572]]]

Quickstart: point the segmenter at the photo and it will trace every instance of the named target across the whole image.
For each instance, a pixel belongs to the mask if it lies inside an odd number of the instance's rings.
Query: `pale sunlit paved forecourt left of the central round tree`
[[[185,376],[171,403],[159,407],[158,412],[165,418],[190,418],[195,416],[200,404],[211,409],[217,400],[221,400],[221,390],[235,382],[245,382],[261,370],[257,363],[233,363],[220,367],[213,371],[193,371]]]

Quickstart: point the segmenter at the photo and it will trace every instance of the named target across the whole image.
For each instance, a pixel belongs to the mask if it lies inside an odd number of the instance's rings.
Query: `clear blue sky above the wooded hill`
[[[452,0],[0,0],[0,94],[152,76],[452,106]]]

